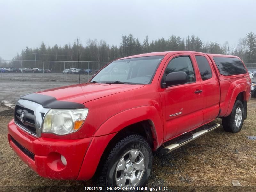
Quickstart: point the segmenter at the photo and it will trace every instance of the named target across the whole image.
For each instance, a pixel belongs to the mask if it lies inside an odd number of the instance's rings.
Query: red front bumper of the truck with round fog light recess
[[[50,179],[75,180],[84,161],[92,138],[52,139],[35,138],[16,126],[8,124],[8,140],[11,148],[38,175]],[[67,165],[61,162],[61,155]]]

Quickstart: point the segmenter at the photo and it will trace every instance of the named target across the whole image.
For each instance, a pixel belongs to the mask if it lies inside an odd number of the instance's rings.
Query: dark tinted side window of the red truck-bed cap
[[[238,75],[247,73],[242,61],[233,57],[213,57],[221,75]]]

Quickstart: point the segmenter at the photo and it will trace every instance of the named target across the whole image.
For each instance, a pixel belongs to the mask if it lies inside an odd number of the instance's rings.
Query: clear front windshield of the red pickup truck
[[[131,84],[149,84],[163,57],[149,56],[113,61],[93,77],[91,82],[114,83],[120,81]]]

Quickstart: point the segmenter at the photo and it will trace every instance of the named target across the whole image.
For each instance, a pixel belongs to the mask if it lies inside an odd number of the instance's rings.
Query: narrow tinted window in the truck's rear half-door
[[[196,62],[197,62],[202,80],[205,81],[207,79],[211,79],[212,78],[212,70],[211,70],[210,64],[209,64],[208,60],[206,59],[206,57],[197,55]]]

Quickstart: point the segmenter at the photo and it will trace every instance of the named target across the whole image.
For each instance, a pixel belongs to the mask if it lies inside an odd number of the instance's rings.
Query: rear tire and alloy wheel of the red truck
[[[222,118],[222,126],[226,132],[238,133],[244,123],[244,106],[237,100],[229,116]]]

